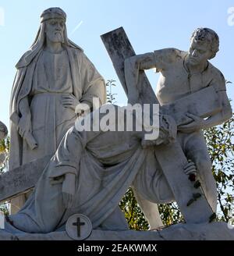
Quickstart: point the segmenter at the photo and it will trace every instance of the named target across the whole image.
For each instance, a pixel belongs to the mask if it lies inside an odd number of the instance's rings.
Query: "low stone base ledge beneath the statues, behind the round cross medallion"
[[[72,240],[65,231],[12,235],[0,229],[0,240]],[[87,240],[234,240],[234,228],[225,222],[177,224],[161,231],[93,230]]]

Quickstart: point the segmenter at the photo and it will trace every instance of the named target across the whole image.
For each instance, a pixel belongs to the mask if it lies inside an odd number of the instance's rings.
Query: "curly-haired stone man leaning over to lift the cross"
[[[115,34],[115,31],[112,32]],[[119,45],[122,47],[121,44]],[[125,47],[124,44],[122,45]],[[140,87],[144,87],[144,84],[139,82],[140,72],[143,72],[144,69],[156,69],[161,73],[156,87],[156,96],[161,108],[163,109],[165,105],[173,107],[174,104],[180,104],[180,108],[176,112],[180,112],[185,120],[183,123],[176,122],[178,125],[177,141],[186,157],[196,165],[197,176],[204,196],[213,212],[216,212],[217,208],[217,188],[211,172],[211,159],[202,130],[217,126],[232,116],[232,108],[225,89],[225,78],[220,70],[209,62],[210,59],[215,58],[218,49],[218,34],[207,27],[197,28],[190,37],[188,51],[164,48],[135,55],[125,60],[126,85],[128,88],[132,87],[131,92],[135,91],[135,98],[137,98],[137,91],[143,90]],[[206,87],[213,88],[216,93],[215,97],[214,94],[207,93],[205,98],[198,97],[196,101],[191,101],[190,107],[183,105],[183,98],[202,93]],[[218,105],[215,111],[207,105],[207,101],[211,102],[214,99]],[[207,116],[200,115],[196,111],[193,112],[193,108],[200,107],[207,108],[205,111]],[[172,112],[172,116],[175,118],[177,113],[175,116]],[[204,119],[204,117],[207,118]],[[161,167],[163,168],[163,165]],[[175,174],[177,176],[177,173]],[[167,176],[166,173],[165,176]],[[170,185],[172,184],[170,183]]]

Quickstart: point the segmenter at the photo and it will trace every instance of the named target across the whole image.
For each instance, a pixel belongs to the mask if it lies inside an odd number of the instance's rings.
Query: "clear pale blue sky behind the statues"
[[[220,37],[220,52],[211,62],[234,82],[234,26],[228,23],[233,0],[0,0],[0,120],[7,125],[15,64],[34,41],[41,12],[55,6],[67,13],[70,39],[84,49],[105,80],[117,80],[119,104],[126,103],[126,96],[100,38],[117,27],[124,27],[137,54],[167,47],[186,50],[195,28],[210,27]],[[155,90],[158,75],[152,70],[147,75]],[[228,94],[234,100],[234,84]]]

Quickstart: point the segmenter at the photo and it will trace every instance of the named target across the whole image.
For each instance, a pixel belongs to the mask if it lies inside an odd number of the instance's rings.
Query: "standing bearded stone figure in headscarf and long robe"
[[[66,13],[60,8],[42,12],[37,37],[16,69],[10,99],[9,171],[54,154],[76,114],[95,108],[93,98],[100,104],[106,101],[105,81],[67,37]],[[25,199],[23,195],[12,199],[10,212],[18,212]]]

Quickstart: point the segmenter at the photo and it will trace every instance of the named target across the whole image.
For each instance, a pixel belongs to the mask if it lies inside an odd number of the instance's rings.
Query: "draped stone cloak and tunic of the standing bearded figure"
[[[59,140],[75,120],[73,110],[62,106],[62,94],[73,94],[90,106],[93,97],[105,103],[105,82],[82,50],[66,46],[60,55],[51,55],[41,49],[28,66],[18,69],[10,115],[20,116],[19,103],[29,98],[31,133],[38,140],[38,148],[30,151],[11,122],[9,169],[55,153]]]

